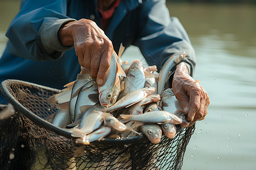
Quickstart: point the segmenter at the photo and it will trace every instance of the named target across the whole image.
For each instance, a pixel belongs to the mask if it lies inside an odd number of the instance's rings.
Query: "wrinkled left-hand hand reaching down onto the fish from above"
[[[90,76],[97,78],[98,86],[105,83],[113,54],[112,41],[92,20],[80,19],[61,26],[58,37],[62,45],[74,45],[82,67],[90,70]]]

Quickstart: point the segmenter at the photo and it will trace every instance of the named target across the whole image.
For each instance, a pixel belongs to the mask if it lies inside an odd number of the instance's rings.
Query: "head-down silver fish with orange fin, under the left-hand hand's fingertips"
[[[126,76],[113,53],[110,61],[110,67],[106,72],[106,82],[103,86],[98,86],[99,99],[102,107],[108,108],[110,105],[110,101],[113,97],[114,86],[117,81],[117,75]]]

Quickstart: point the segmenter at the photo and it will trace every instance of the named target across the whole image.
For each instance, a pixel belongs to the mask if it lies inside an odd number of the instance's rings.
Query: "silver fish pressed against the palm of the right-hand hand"
[[[182,127],[188,126],[189,122],[183,112],[180,101],[176,99],[172,89],[167,88],[162,92],[161,96],[162,99],[159,103],[160,108],[162,108],[163,111],[174,113],[180,117],[182,119],[182,123],[180,124]]]

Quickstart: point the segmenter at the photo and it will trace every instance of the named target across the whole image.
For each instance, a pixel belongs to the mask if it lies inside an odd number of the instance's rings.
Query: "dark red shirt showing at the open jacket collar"
[[[106,11],[102,11],[98,8],[98,12],[100,12],[101,14],[101,25],[102,25],[102,29],[105,31],[106,28],[108,28],[109,22],[111,17],[114,14],[115,8],[118,7],[119,3],[121,0],[116,0],[115,2],[113,2],[112,6],[110,6],[110,8]]]

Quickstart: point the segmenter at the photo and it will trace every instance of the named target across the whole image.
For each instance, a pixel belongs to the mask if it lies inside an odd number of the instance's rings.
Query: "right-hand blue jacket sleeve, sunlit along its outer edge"
[[[166,60],[174,53],[186,52],[184,62],[189,73],[195,67],[195,50],[187,32],[175,17],[170,18],[166,1],[144,1],[139,10],[139,33],[134,45],[138,46],[149,65],[160,70]]]

